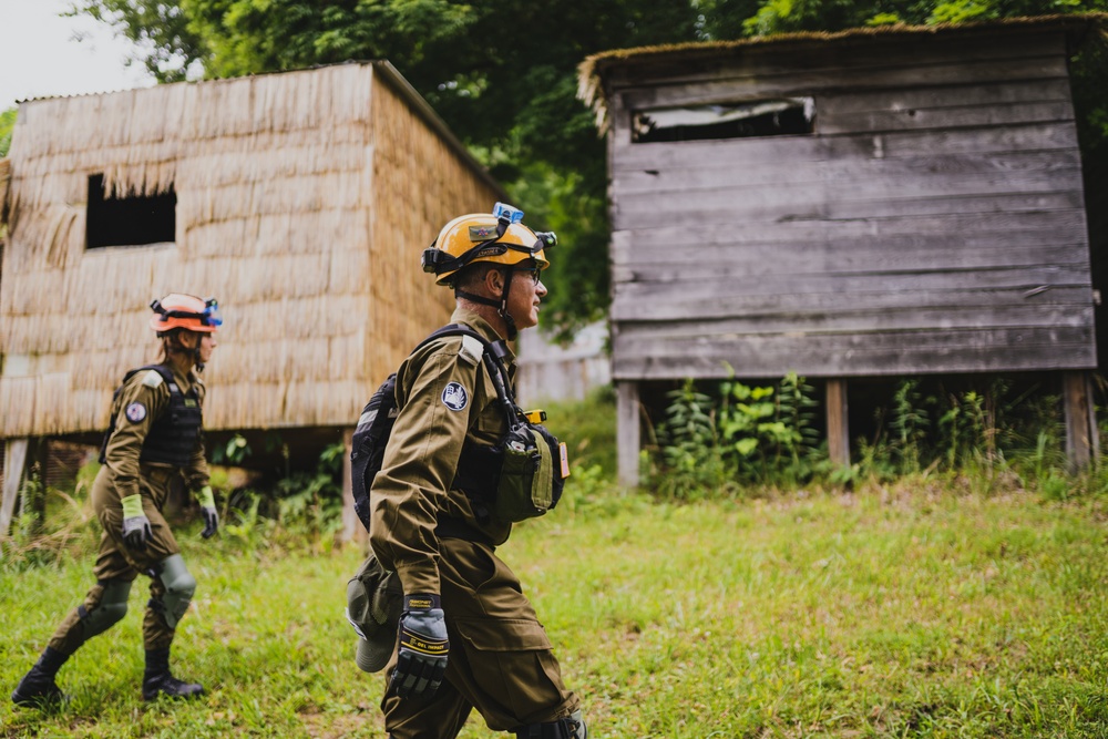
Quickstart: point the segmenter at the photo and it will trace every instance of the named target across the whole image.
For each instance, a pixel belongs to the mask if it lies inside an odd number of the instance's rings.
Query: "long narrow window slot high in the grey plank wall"
[[[638,111],[632,122],[632,141],[635,143],[788,136],[814,132],[815,101],[811,97]]]

